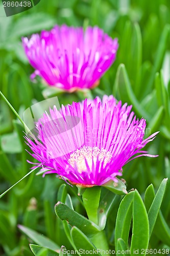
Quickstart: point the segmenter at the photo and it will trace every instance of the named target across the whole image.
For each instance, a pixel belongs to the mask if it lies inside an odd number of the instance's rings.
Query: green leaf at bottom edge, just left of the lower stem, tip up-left
[[[85,236],[85,234],[77,227],[71,228],[71,238],[74,242],[77,250],[85,250],[85,251],[96,251],[96,247],[90,242],[90,240]],[[101,255],[98,251],[96,255]]]

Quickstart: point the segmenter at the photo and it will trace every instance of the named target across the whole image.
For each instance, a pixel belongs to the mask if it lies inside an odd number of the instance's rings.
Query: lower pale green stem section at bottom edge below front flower
[[[90,241],[95,245],[101,255],[110,255],[109,246],[104,231],[94,234],[90,237]]]

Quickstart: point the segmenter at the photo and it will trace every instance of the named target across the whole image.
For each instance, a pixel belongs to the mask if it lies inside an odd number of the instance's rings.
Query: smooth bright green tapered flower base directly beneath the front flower
[[[83,193],[83,203],[90,221],[98,225],[98,208],[101,196],[101,187],[94,186],[86,188]]]

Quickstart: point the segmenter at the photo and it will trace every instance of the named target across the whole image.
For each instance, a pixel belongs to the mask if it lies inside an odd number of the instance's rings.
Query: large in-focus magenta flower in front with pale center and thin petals
[[[72,184],[103,185],[122,176],[122,167],[132,159],[149,156],[142,148],[157,133],[143,139],[145,119],[138,120],[132,105],[111,96],[85,99],[50,109],[36,123],[34,141],[26,136],[45,173],[55,173]]]

